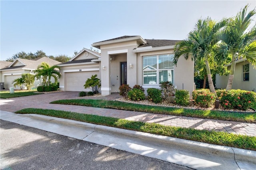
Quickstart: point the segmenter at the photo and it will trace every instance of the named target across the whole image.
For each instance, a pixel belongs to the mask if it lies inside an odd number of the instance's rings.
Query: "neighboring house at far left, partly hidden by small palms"
[[[14,84],[12,84],[12,82],[17,78],[20,78],[23,73],[34,74],[34,71],[42,62],[46,62],[50,66],[60,63],[59,61],[50,59],[48,57],[42,57],[35,60],[18,58],[13,61],[8,67],[3,69],[1,68],[1,82],[4,82],[4,88],[9,89],[10,87],[14,87]],[[54,79],[52,81],[54,82]],[[40,85],[42,85],[42,79],[35,79],[34,88]],[[20,89],[20,87],[16,86],[14,87],[14,89]]]

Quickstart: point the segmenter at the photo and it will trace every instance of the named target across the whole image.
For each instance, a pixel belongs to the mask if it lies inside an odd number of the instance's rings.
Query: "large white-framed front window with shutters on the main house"
[[[173,54],[143,57],[143,85],[159,85],[163,81],[174,84]]]

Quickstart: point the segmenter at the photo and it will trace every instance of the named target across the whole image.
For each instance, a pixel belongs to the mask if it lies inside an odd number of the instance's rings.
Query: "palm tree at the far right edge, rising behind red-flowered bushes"
[[[256,10],[254,9],[246,15],[247,8],[248,5],[238,12],[235,18],[232,18],[227,29],[215,35],[215,39],[224,42],[224,45],[220,46],[220,50],[232,55],[226,91],[232,89],[237,59],[246,58],[253,65],[256,64],[256,25],[248,31]]]

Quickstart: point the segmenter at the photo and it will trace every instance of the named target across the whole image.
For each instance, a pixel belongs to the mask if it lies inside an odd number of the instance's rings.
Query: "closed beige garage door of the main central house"
[[[90,89],[84,89],[86,80],[92,75],[99,75],[99,71],[83,71],[83,72],[71,72],[65,73],[65,85],[66,91],[90,91]]]

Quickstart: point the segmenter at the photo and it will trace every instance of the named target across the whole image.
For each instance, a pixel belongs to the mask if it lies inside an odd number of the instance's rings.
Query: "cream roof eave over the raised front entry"
[[[105,42],[96,42],[92,43],[92,47],[100,49],[101,45],[108,45],[108,44],[113,44],[113,43],[122,43],[122,42],[129,42],[132,40],[138,40],[140,44],[145,44],[147,43],[146,40],[144,40],[141,36],[135,36],[135,37],[130,37],[130,38],[123,38],[123,39],[118,39],[118,40],[110,40],[110,41],[105,41]]]

